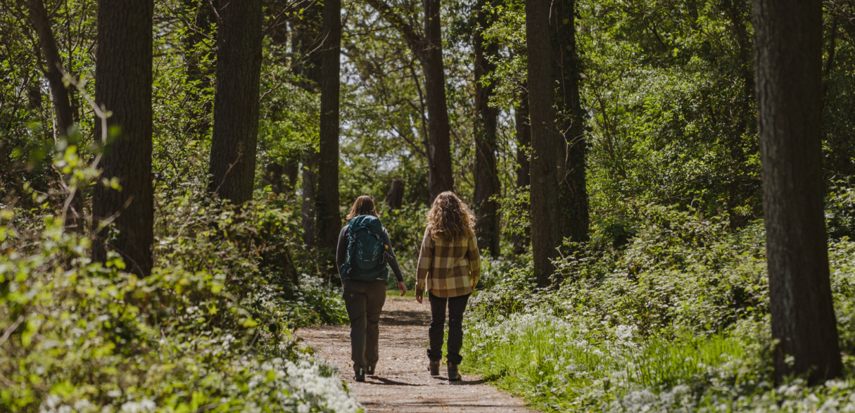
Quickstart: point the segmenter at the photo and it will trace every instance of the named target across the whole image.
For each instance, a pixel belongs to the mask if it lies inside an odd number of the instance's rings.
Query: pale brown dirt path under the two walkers
[[[380,363],[377,374],[366,375],[363,383],[353,380],[349,325],[299,329],[297,335],[315,354],[339,367],[347,388],[369,413],[531,413],[522,400],[500,393],[476,375],[451,383],[445,365],[439,376],[428,374],[429,309],[428,300],[420,305],[412,298],[386,298],[380,316]]]

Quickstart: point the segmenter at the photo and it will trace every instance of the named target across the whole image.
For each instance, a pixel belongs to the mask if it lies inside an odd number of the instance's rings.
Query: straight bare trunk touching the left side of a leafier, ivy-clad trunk
[[[558,185],[563,181],[563,154],[566,144],[556,128],[555,86],[550,44],[551,0],[526,2],[526,47],[528,53],[528,104],[530,109],[531,162],[531,229],[534,277],[538,285],[547,286],[555,269],[551,260],[557,256],[563,236]],[[560,161],[560,162],[559,162]]]

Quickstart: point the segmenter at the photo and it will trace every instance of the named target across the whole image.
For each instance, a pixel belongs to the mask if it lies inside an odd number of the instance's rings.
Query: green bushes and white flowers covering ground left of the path
[[[25,231],[3,210],[0,410],[360,411],[292,337],[346,322],[340,291],[262,266],[286,247],[291,212],[192,188],[157,205],[156,267],[141,279],[117,253],[92,262],[91,239],[62,219]]]

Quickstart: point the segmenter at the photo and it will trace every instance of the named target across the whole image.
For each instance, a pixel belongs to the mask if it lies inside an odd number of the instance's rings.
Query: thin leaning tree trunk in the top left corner
[[[56,112],[56,132],[60,137],[68,136],[68,128],[74,125],[71,103],[68,99],[68,90],[62,83],[62,56],[56,47],[56,38],[50,29],[48,12],[44,9],[42,0],[28,0],[30,18],[38,33],[38,44],[44,54],[45,73],[48,84],[50,84],[50,95],[53,97],[54,110]]]

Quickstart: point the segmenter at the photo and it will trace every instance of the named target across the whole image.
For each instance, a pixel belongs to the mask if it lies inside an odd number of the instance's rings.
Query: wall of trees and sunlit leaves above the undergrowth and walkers
[[[294,253],[331,274],[355,195],[388,194],[389,209],[416,215],[453,189],[475,206],[482,250],[530,251],[546,287],[560,248],[603,232],[631,236],[638,202],[726,217],[734,230],[773,207],[763,202],[761,176],[774,171],[761,174],[761,159],[773,155],[761,154],[755,82],[755,39],[765,33],[755,16],[765,7],[3,0],[3,203],[55,198],[69,230],[98,234],[94,258],[115,251],[146,275],[158,191],[203,182],[234,204],[278,196],[301,217],[310,253]],[[855,165],[855,6],[827,1],[818,17],[819,3],[810,7],[819,20],[797,32],[820,31],[801,49],[820,72],[787,82],[819,76],[805,86],[817,108],[797,112],[821,116],[805,133],[819,134],[822,169],[805,166],[816,176],[803,184],[822,189]],[[793,18],[781,13],[769,21]],[[68,196],[68,177],[41,161],[58,142],[97,160],[108,184]],[[813,230],[824,228],[822,196],[803,211]],[[396,243],[418,238],[406,230]],[[781,265],[816,268],[814,254]]]

